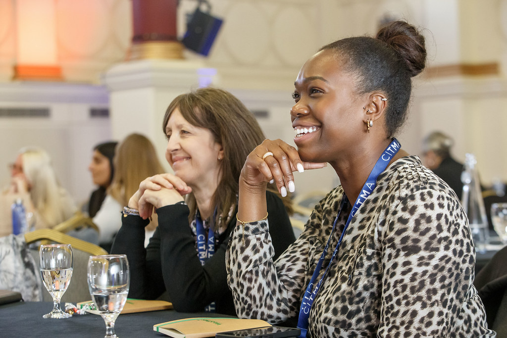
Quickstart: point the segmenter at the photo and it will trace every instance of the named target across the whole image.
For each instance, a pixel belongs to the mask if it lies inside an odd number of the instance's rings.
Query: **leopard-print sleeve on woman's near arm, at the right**
[[[378,336],[494,336],[472,284],[468,222],[447,190],[420,190],[384,209]]]

